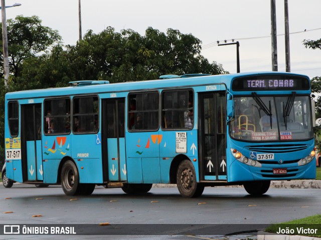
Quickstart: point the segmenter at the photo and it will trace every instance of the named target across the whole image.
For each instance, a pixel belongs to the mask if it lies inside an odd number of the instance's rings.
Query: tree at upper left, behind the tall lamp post
[[[25,59],[48,52],[49,47],[61,41],[57,30],[43,26],[41,23],[38,16],[22,15],[7,21],[9,66],[15,77],[19,75]],[[2,33],[0,36],[2,39]],[[2,44],[2,40],[0,42]],[[3,53],[3,50],[1,52]],[[0,69],[3,71],[3,54],[0,60]]]

